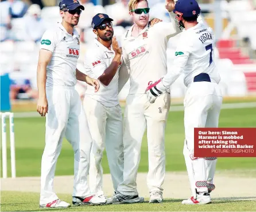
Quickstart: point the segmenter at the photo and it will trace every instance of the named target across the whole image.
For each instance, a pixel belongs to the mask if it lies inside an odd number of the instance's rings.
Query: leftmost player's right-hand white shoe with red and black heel
[[[73,197],[73,205],[79,205],[79,206],[83,206],[83,205],[104,205],[107,202],[106,199],[103,198],[99,198],[95,195],[92,195],[90,197]]]

